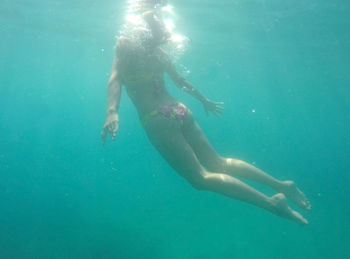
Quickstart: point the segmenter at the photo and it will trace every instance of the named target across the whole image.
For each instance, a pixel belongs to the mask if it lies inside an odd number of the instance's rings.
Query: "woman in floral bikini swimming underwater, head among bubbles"
[[[261,207],[300,224],[307,220],[287,204],[287,198],[309,210],[310,203],[292,181],[279,181],[260,169],[235,158],[221,157],[213,149],[190,110],[176,101],[165,89],[167,73],[181,90],[202,102],[207,113],[220,115],[222,103],[210,101],[176,70],[170,57],[160,48],[169,34],[161,17],[145,12],[148,26],[135,29],[135,37],[120,37],[108,83],[107,119],[102,130],[114,140],[118,130],[118,106],[122,85],[135,105],[140,121],[153,146],[161,156],[198,190],[213,191]],[[268,197],[236,177],[273,188],[277,194]]]

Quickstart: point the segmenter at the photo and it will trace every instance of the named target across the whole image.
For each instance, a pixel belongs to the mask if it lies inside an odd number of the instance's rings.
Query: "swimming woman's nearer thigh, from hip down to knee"
[[[192,185],[201,180],[205,170],[184,138],[178,121],[156,116],[145,130],[153,146],[181,176]]]

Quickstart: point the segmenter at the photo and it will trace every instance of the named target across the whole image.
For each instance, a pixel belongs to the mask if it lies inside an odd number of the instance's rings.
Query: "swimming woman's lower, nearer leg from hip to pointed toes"
[[[307,224],[306,219],[288,207],[283,194],[268,197],[230,175],[207,171],[199,163],[175,120],[153,117],[147,124],[146,132],[169,165],[196,189],[220,193],[261,207],[280,217]]]

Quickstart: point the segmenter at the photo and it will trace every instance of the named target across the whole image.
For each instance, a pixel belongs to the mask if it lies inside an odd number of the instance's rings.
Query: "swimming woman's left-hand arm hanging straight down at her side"
[[[121,96],[121,77],[118,71],[118,61],[114,58],[111,76],[108,81],[107,118],[101,132],[102,144],[106,142],[108,133],[114,140],[118,131],[118,108]]]

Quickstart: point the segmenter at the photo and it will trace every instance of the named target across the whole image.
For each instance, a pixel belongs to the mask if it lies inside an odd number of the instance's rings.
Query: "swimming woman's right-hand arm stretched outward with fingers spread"
[[[200,91],[198,91],[190,82],[188,82],[180,73],[177,71],[174,63],[171,61],[170,57],[163,53],[164,55],[164,65],[165,72],[170,76],[175,85],[180,88],[182,91],[190,94],[194,98],[198,99],[204,106],[205,112],[207,115],[209,112],[212,112],[216,116],[220,116],[224,104],[223,102],[213,102],[206,98]]]

